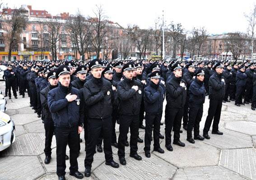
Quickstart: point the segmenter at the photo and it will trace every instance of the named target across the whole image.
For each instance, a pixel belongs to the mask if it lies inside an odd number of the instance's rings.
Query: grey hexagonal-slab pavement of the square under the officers
[[[4,82],[0,82],[4,91]],[[15,123],[16,141],[0,157],[0,180],[57,180],[56,175],[56,140],[52,141],[52,159],[44,164],[44,127],[42,120],[29,107],[29,97],[7,99],[6,114]],[[164,102],[165,104],[166,102]],[[165,107],[165,105],[164,105]],[[204,113],[200,123],[200,134],[208,114],[209,100],[206,98]],[[164,112],[164,111],[163,111]],[[164,123],[164,113],[161,122]],[[234,102],[223,103],[219,130],[223,136],[211,134],[210,139],[195,140],[195,144],[186,141],[186,131],[181,134],[181,141],[186,147],[172,145],[173,152],[164,147],[165,139],[160,139],[160,146],[165,153],[153,151],[151,157],[144,156],[144,143],[138,143],[138,153],[142,161],[129,157],[130,147],[126,147],[127,165],[115,169],[105,165],[104,153],[94,155],[92,175],[87,180],[255,180],[256,179],[256,111],[250,105],[234,106]],[[140,138],[144,139],[144,129],[139,129]],[[161,126],[164,135],[164,125]],[[119,135],[119,125],[116,125]],[[79,171],[84,172],[84,132],[78,157]],[[130,133],[128,134],[130,141]],[[113,158],[118,161],[117,148],[112,147]],[[66,153],[69,155],[67,146]],[[66,161],[66,179],[75,180],[69,175],[69,160]]]

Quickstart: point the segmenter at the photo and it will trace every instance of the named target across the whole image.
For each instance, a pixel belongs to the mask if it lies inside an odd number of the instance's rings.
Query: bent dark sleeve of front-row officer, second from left
[[[93,106],[103,98],[104,94],[102,91],[98,92],[97,94],[92,94],[89,90],[88,84],[84,84],[84,102],[87,106]]]

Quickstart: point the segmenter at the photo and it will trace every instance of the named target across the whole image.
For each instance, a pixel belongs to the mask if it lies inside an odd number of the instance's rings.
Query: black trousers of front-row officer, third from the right
[[[180,140],[183,108],[168,108],[168,118],[165,121],[165,145],[172,142],[172,128],[174,129],[173,142]]]

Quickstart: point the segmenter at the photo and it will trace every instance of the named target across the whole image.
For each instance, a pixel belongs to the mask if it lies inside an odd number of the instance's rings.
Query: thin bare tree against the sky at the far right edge
[[[256,5],[253,6],[252,11],[249,14],[245,14],[245,18],[248,22],[247,33],[251,37],[251,58],[253,57],[254,48],[254,31],[256,26]]]

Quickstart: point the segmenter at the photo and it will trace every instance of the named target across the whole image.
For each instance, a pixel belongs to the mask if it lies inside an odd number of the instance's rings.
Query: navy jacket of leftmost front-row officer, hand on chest
[[[68,102],[65,97],[69,93],[77,95],[77,99]],[[48,92],[47,101],[54,126],[71,128],[83,125],[84,111],[80,106],[80,93],[78,89],[72,88],[71,84],[67,88],[59,83],[57,88]]]

